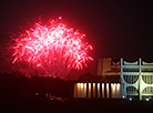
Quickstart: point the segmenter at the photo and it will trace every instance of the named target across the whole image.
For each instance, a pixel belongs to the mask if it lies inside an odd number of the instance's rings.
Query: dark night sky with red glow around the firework
[[[85,40],[94,48],[90,54],[95,61],[90,62],[85,71],[92,69],[95,73],[98,58],[122,56],[135,61],[141,56],[153,61],[152,12],[149,1],[6,0],[0,2],[0,44],[9,40],[7,32],[19,32],[19,27],[29,28],[23,19],[28,19],[32,27],[39,16],[43,23],[61,16],[68,27],[85,33]],[[3,63],[0,66],[3,68]]]

